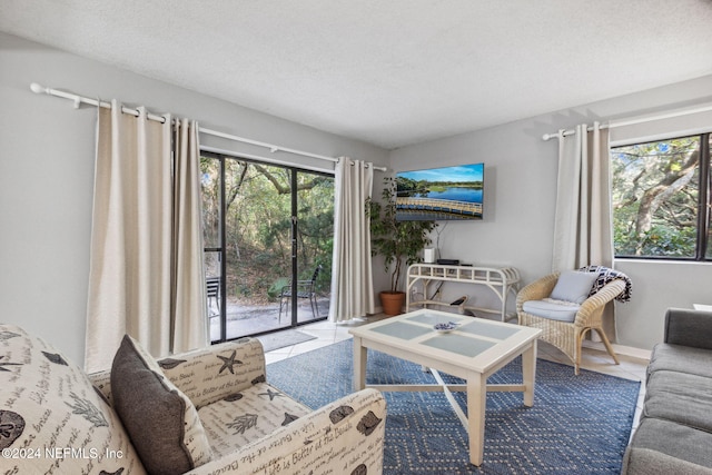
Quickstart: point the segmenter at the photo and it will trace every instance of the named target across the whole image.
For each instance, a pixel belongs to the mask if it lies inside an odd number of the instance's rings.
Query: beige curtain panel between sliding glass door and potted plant
[[[370,222],[366,199],[374,182],[373,165],[342,157],[335,169],[334,256],[330,321],[348,321],[374,310]]]

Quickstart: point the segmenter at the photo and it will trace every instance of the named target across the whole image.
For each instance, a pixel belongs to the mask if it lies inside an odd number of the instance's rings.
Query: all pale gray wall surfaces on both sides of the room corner
[[[542,141],[543,133],[595,118],[712,101],[710,76],[388,154],[0,33],[0,321],[24,326],[77,362],[83,360],[85,346],[95,110],[77,111],[66,100],[33,95],[30,82],[146,105],[197,119],[207,128],[296,149],[390,162],[400,170],[484,161],[485,219],[448,224],[441,235],[444,257],[513,265],[525,283],[551,268],[557,146],[555,140]],[[265,154],[214,138],[204,144]],[[662,337],[665,308],[712,301],[712,265],[619,261],[616,267],[634,281],[633,301],[619,305],[622,345],[650,348]],[[387,279],[378,271],[379,260],[375,269],[378,290]]]

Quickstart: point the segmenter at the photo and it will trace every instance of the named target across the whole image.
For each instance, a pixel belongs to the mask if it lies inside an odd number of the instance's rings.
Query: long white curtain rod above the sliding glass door
[[[105,109],[111,109],[111,102],[106,102],[106,101],[101,101],[101,100],[98,100],[98,99],[92,99],[92,98],[89,98],[89,97],[75,95],[75,93],[71,93],[71,92],[60,91],[58,89],[46,88],[43,86],[38,85],[37,82],[32,82],[30,85],[30,89],[34,93],[46,93],[48,96],[55,96],[55,97],[60,97],[62,99],[69,99],[75,103],[75,109],[79,109],[79,106],[81,106],[82,102],[83,103],[88,103],[90,106],[95,106],[95,107],[101,107],[101,108],[105,108]],[[137,109],[131,109],[131,108],[128,108],[128,107],[121,107],[121,112],[129,113],[129,115],[135,116],[135,117],[139,116],[139,111]],[[149,120],[156,120],[156,121],[161,122],[161,123],[166,121],[165,117],[156,116],[154,113],[148,113],[146,117]],[[234,136],[234,135],[230,135],[230,133],[220,132],[218,130],[205,129],[202,127],[200,128],[200,132],[201,133],[206,133],[208,136],[220,137],[220,138],[233,140],[233,141],[239,141],[239,142],[244,142],[244,144],[254,145],[254,146],[257,146],[257,147],[268,148],[269,151],[273,152],[273,154],[275,154],[277,151],[284,151],[284,152],[287,152],[287,154],[300,155],[303,157],[317,158],[319,160],[327,160],[327,161],[333,161],[333,162],[338,161],[338,158],[327,157],[325,155],[317,155],[317,154],[312,154],[312,152],[308,152],[308,151],[297,150],[297,149],[294,149],[294,148],[281,147],[281,146],[274,145],[274,144],[267,144],[267,142],[263,142],[263,141],[258,141],[258,140],[247,139],[247,138],[244,138],[244,137],[238,137],[238,136]],[[386,171],[387,170],[387,168],[385,168],[385,167],[376,167],[374,165],[369,165],[369,166],[374,167],[374,170],[380,170],[380,171]]]

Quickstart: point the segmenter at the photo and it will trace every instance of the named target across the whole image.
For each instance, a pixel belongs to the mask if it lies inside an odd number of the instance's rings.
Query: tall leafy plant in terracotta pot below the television
[[[382,202],[369,199],[366,212],[370,219],[372,254],[384,258],[386,274],[390,275],[390,288],[380,293],[380,304],[386,315],[398,315],[405,293],[399,290],[403,265],[421,261],[421,250],[431,244],[428,232],[437,227],[435,221],[396,219],[396,180],[384,178]]]

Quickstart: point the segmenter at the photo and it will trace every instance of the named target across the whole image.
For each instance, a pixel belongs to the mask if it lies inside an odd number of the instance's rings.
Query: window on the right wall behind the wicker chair
[[[710,133],[611,148],[616,257],[712,259]]]

